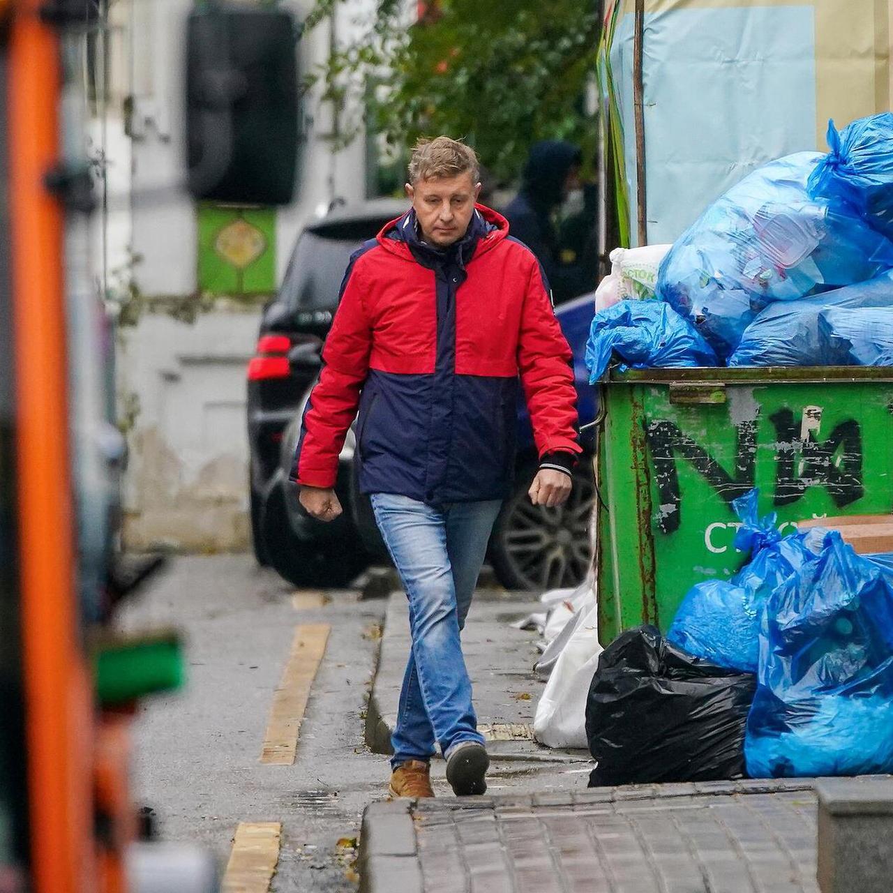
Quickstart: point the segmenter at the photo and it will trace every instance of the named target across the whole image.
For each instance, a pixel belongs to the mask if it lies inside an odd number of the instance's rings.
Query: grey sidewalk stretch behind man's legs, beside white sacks
[[[483,589],[475,594],[462,642],[474,686],[478,728],[496,758],[556,763],[580,756],[588,759],[588,753],[553,751],[532,739],[533,717],[546,685],[533,672],[538,635],[515,630],[510,624],[542,610],[528,593]],[[379,668],[366,714],[366,743],[379,754],[391,751],[390,736],[409,648],[406,597],[403,592],[395,592],[388,599]]]

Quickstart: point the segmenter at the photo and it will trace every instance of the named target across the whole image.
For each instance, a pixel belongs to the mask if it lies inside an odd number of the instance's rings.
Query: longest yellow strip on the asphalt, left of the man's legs
[[[291,654],[273,697],[261,763],[291,765],[295,762],[298,731],[330,629],[328,623],[306,623],[296,628]]]

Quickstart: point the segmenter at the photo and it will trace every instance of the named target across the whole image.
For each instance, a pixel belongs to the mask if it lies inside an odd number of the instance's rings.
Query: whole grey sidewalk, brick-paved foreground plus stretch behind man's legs
[[[491,794],[505,791],[512,774],[523,793],[452,797],[442,764],[432,767],[436,799],[366,809],[361,891],[817,893],[813,780],[588,790],[588,753],[531,739],[545,685],[532,672],[537,636],[509,624],[538,607],[529,596],[484,591],[463,632],[493,758]],[[406,598],[396,593],[367,714],[367,740],[380,753],[389,749],[408,652]]]

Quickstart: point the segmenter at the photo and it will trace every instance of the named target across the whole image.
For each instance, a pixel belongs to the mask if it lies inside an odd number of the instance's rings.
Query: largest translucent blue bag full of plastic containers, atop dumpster
[[[723,359],[757,313],[873,279],[893,268],[893,242],[849,204],[811,198],[822,159],[802,152],[749,174],[672,246],[657,296],[695,323]]]

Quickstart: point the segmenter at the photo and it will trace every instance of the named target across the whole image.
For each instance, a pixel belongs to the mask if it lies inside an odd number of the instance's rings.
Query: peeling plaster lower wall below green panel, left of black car
[[[245,367],[256,311],[221,308],[194,324],[146,313],[121,330],[118,399],[128,433],[124,542],[213,552],[248,546]]]

